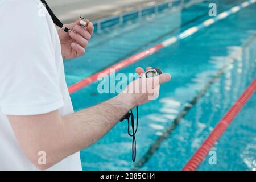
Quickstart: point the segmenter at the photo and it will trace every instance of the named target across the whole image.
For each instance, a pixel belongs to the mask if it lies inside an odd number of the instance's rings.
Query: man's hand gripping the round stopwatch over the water
[[[147,71],[149,69],[151,69],[151,67],[147,67]],[[144,70],[138,67],[136,72],[141,76]],[[131,82],[122,94],[129,94],[131,102],[133,102],[135,106],[142,105],[158,98],[160,84],[170,80],[171,75],[168,73],[163,73],[152,78],[139,78]]]

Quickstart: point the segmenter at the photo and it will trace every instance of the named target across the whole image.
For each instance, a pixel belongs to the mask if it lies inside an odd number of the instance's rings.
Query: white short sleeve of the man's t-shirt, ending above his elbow
[[[64,103],[55,44],[38,3],[10,1],[0,11],[1,112],[36,115],[60,109]]]

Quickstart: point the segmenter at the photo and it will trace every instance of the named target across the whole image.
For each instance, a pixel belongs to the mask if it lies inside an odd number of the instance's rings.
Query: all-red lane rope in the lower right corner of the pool
[[[243,92],[242,96],[238,98],[235,104],[229,109],[229,111],[224,115],[218,125],[214,128],[212,133],[207,137],[204,143],[199,147],[199,149],[195,152],[192,158],[188,161],[188,163],[182,169],[183,171],[195,171],[203,162],[205,156],[207,156],[210,149],[214,146],[218,139],[220,139],[221,135],[224,134],[230,123],[232,123],[233,119],[240,112],[242,107],[246,104],[247,101],[250,100],[250,97],[256,90],[256,77],[253,82],[247,87],[245,92]]]

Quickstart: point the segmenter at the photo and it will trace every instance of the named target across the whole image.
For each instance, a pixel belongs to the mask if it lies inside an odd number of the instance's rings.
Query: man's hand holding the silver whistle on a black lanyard
[[[88,26],[82,28],[79,18],[75,23],[65,24],[65,27],[75,30],[75,32],[64,32],[61,28],[57,31],[60,38],[61,53],[63,59],[71,59],[79,57],[85,53],[85,47],[93,35],[93,24],[90,22]]]

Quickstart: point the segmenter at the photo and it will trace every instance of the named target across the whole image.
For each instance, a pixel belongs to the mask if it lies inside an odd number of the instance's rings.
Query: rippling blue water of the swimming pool
[[[211,1],[212,2],[212,1]],[[216,1],[217,11],[229,10],[243,1]],[[93,36],[86,54],[65,61],[68,85],[177,35],[208,19],[208,1],[167,9],[134,19]],[[134,73],[136,67],[162,68],[172,80],[164,84],[159,100],[139,106],[137,161],[179,111],[200,92],[230,59],[234,60],[207,92],[199,98],[168,139],[139,169],[180,170],[213,130],[223,115],[256,76],[256,4],[200,30],[170,47],[163,48],[118,73]],[[81,110],[115,94],[99,94],[98,82],[71,95],[74,109]],[[209,156],[200,170],[256,169],[256,94],[243,107],[228,130],[212,148],[217,164]],[[89,117],[89,116],[88,116]],[[118,123],[104,138],[81,151],[84,170],[132,169],[131,138],[126,123]]]

